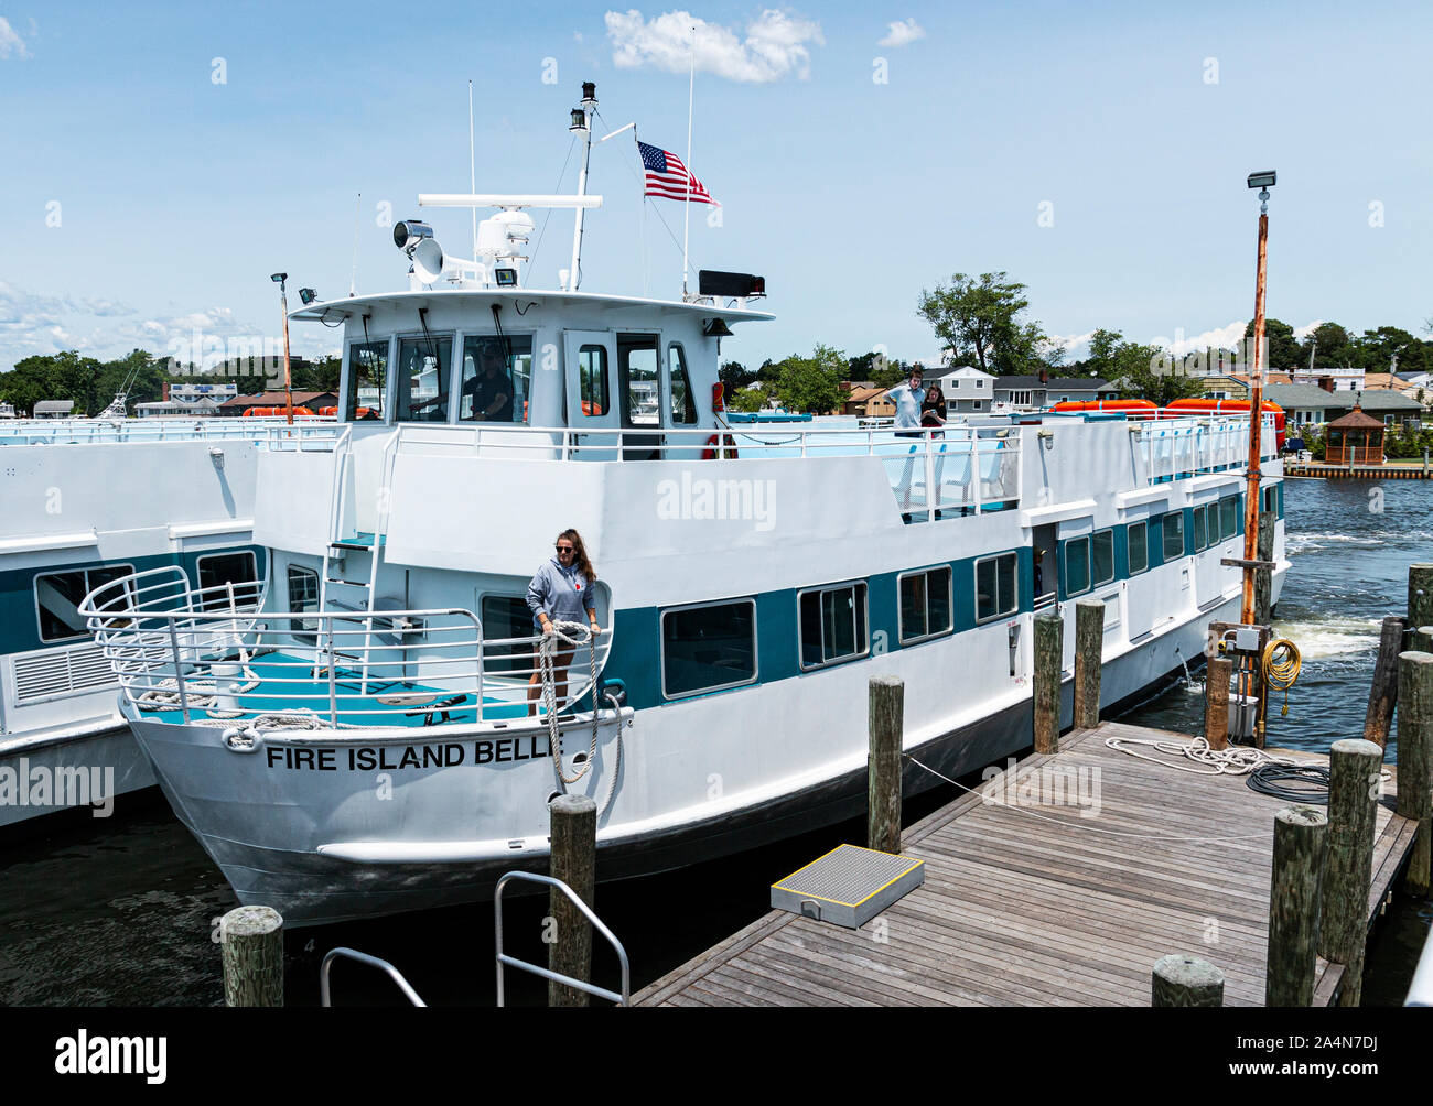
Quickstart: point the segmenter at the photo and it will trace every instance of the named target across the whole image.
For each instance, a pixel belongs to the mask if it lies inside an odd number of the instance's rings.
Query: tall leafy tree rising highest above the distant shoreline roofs
[[[1025,285],[1007,281],[1005,272],[982,272],[979,278],[957,272],[949,285],[921,289],[916,309],[934,328],[953,365],[1027,372],[1049,362],[1040,357],[1045,332],[1039,324],[1020,319],[1030,305],[1023,292]]]

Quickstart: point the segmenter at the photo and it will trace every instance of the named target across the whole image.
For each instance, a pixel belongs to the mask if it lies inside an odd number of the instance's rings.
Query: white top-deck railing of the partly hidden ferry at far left
[[[109,446],[156,441],[332,440],[348,425],[332,418],[17,418],[0,421],[0,446]],[[274,431],[284,431],[275,434]]]

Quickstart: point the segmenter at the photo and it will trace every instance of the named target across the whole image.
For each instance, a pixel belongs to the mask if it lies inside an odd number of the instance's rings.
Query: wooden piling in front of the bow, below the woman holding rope
[[[552,814],[552,877],[562,880],[589,907],[593,904],[598,860],[598,804],[586,795],[560,795]],[[547,970],[592,983],[592,923],[560,890],[547,893],[555,933],[547,946]],[[547,1006],[586,1006],[588,993],[547,981]]]

